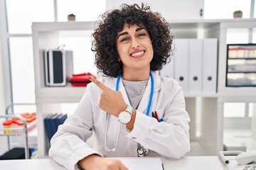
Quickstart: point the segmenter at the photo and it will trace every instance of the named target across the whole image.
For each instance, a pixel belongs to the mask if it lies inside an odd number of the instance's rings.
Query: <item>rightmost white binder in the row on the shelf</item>
[[[217,38],[203,40],[203,94],[217,93]]]

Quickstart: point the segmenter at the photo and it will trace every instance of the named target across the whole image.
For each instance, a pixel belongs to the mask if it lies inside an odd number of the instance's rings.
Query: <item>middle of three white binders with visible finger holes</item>
[[[202,93],[203,77],[203,40],[189,39],[188,58],[188,92],[190,94]]]

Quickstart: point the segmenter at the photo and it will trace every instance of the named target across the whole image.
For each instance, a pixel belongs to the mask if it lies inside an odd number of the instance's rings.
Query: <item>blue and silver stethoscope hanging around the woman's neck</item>
[[[153,78],[153,75],[151,74],[151,72],[149,73],[149,76],[151,78],[151,91],[150,91],[150,96],[149,96],[149,104],[148,104],[148,107],[146,109],[146,115],[147,116],[149,116],[149,111],[150,111],[150,108],[151,108],[152,98],[153,98],[153,94],[154,94],[154,78]],[[118,89],[119,89],[119,82],[120,82],[121,77],[122,77],[122,74],[119,74],[119,76],[117,77],[117,83],[116,83],[115,91],[118,91]],[[116,142],[114,148],[110,149],[110,148],[107,147],[107,130],[108,130],[109,121],[110,121],[110,113],[107,113],[107,123],[106,123],[106,128],[105,128],[105,142],[104,142],[104,145],[105,145],[105,150],[107,152],[115,152],[117,150],[117,145],[118,145],[118,142],[119,142],[121,123],[119,123],[117,142]],[[147,149],[145,147],[140,146],[140,147],[137,148],[137,154],[139,155],[139,157],[144,157],[148,152],[149,152],[149,149]]]

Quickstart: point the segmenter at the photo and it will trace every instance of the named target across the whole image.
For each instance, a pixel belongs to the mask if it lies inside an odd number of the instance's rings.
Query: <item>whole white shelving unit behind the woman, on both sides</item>
[[[216,155],[223,149],[223,97],[240,96],[241,91],[225,88],[226,33],[228,28],[256,28],[255,19],[169,21],[174,38],[218,38],[218,93],[185,94],[186,109],[191,117],[191,152],[189,155]],[[36,81],[38,120],[38,154],[46,157],[43,118],[58,111],[60,103],[78,103],[85,88],[47,87],[44,84],[43,50],[58,47],[62,35],[83,35],[93,30],[94,22],[33,23],[33,56]],[[256,92],[256,88],[246,89]],[[256,93],[243,93],[253,96]],[[196,119],[201,113],[201,136],[196,136]],[[201,150],[201,153],[199,153]]]

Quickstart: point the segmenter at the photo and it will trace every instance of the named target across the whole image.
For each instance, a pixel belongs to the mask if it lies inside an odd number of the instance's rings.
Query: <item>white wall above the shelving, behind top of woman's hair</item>
[[[123,3],[141,4],[142,0],[107,0],[107,9],[119,8]],[[166,21],[178,19],[203,19],[200,9],[204,8],[204,0],[144,0],[151,6],[151,11],[158,11]]]

